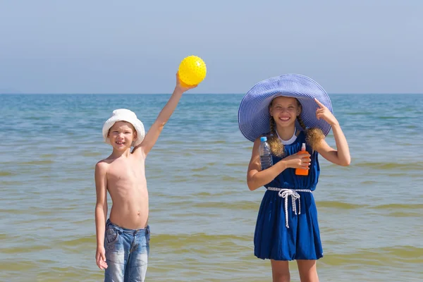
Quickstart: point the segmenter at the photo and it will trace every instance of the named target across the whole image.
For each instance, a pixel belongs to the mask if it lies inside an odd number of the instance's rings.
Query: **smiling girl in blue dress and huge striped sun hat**
[[[288,261],[297,260],[300,279],[319,281],[316,260],[323,257],[312,191],[319,180],[319,154],[348,166],[350,152],[323,88],[303,75],[259,82],[240,104],[241,133],[254,142],[247,171],[250,190],[266,188],[255,228],[255,256],[271,259],[273,281],[290,281]],[[333,130],[336,148],[324,138]],[[271,147],[273,166],[262,170],[260,137]],[[306,154],[298,154],[302,144]],[[307,176],[295,173],[307,170]]]

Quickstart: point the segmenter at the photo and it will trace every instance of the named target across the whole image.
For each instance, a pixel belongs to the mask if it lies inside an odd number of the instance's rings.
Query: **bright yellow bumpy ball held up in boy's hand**
[[[179,79],[186,85],[197,85],[206,78],[206,63],[197,56],[188,56],[180,62]]]

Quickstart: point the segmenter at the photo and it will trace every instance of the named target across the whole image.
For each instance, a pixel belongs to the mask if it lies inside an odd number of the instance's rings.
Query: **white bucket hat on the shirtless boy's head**
[[[126,121],[131,123],[135,130],[137,131],[137,138],[133,140],[132,145],[133,147],[140,145],[142,140],[145,137],[145,130],[144,125],[142,122],[137,118],[137,115],[128,109],[116,109],[111,114],[111,117],[104,123],[103,125],[103,138],[104,142],[111,145],[109,137],[110,128],[117,122],[117,121]]]

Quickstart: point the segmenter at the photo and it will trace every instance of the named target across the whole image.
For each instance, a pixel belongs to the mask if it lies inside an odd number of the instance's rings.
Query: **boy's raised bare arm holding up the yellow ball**
[[[147,156],[154,144],[156,144],[161,130],[163,130],[164,128],[164,125],[167,123],[168,119],[173,114],[173,111],[175,111],[183,92],[195,87],[197,87],[197,85],[192,85],[188,87],[182,86],[179,80],[178,73],[176,73],[176,87],[175,90],[173,90],[171,98],[168,100],[163,109],[161,109],[159,116],[157,116],[156,121],[154,121],[154,123],[152,124],[152,127],[149,128],[147,134],[144,137],[144,140],[142,140],[142,143],[134,148],[134,154],[144,154],[144,156]]]

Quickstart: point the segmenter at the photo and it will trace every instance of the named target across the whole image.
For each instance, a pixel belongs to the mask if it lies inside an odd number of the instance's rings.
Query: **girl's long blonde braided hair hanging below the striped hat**
[[[300,101],[298,101],[298,99],[296,100],[297,100],[298,107],[302,109]],[[272,106],[273,101],[274,100],[270,102],[269,109]],[[306,128],[304,121],[302,121],[302,118],[300,115],[297,116],[297,121],[298,123],[300,123],[300,126],[305,133],[305,142],[307,142],[307,144],[311,146],[313,150],[316,149],[317,146],[320,144],[321,140],[324,140],[324,134],[321,131],[321,129],[320,128]],[[278,134],[276,133],[276,123],[273,116],[270,116],[269,127],[270,127],[270,136],[267,139],[267,142],[269,143],[271,152],[275,156],[282,157],[284,153],[283,143],[281,142],[281,140],[279,140]]]

